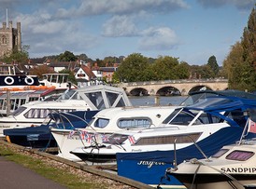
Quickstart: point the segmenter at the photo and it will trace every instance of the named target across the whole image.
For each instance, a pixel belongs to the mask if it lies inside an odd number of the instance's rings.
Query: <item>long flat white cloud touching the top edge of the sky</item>
[[[183,0],[87,0],[82,1],[78,7],[58,9],[55,17],[68,19],[89,15],[127,15],[136,14],[140,11],[170,13],[188,7]]]

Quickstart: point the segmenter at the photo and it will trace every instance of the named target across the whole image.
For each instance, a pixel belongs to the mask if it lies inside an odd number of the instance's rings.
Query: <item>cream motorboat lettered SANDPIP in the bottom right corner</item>
[[[256,139],[225,145],[209,158],[192,158],[166,173],[190,189],[255,188]]]

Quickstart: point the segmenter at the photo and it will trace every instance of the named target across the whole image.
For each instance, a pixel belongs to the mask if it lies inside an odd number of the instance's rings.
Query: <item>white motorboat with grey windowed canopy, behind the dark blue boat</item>
[[[0,118],[0,136],[3,129],[39,126],[50,112],[103,110],[116,106],[131,106],[122,88],[91,86],[71,89],[56,101],[31,101],[21,105],[12,115]]]

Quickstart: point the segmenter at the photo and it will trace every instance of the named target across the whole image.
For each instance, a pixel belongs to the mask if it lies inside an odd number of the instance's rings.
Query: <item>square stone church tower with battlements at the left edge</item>
[[[21,22],[17,22],[17,28],[12,28],[12,21],[3,22],[0,28],[0,57],[12,50],[21,51]]]

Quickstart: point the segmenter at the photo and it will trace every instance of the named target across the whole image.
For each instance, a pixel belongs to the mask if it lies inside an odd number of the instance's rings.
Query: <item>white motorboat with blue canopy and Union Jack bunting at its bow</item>
[[[82,160],[103,161],[112,157],[112,161],[117,153],[171,151],[174,150],[174,142],[177,142],[177,149],[182,149],[214,134],[222,135],[224,128],[243,129],[247,121],[247,116],[243,115],[244,108],[253,106],[256,107],[256,101],[208,97],[191,106],[177,108],[157,128],[116,132],[108,137],[108,142],[80,146],[71,153]],[[223,136],[222,141],[225,142]]]

